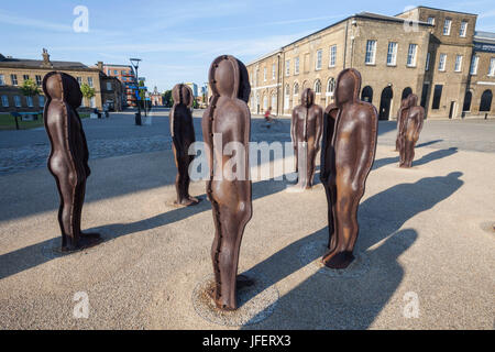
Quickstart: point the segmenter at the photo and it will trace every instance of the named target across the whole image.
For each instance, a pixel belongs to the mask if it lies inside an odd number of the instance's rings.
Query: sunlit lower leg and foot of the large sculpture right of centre
[[[358,206],[360,195],[352,190],[351,183],[342,183],[336,201],[337,243],[323,255],[322,262],[331,268],[345,268],[354,260],[352,251],[358,239]]]

